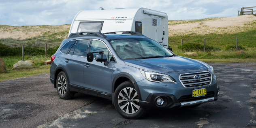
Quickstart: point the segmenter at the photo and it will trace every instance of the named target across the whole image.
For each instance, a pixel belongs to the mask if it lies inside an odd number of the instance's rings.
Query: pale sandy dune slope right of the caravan
[[[169,21],[169,36],[181,34],[236,33],[247,30],[246,23],[256,22],[254,15],[207,18],[204,20]]]

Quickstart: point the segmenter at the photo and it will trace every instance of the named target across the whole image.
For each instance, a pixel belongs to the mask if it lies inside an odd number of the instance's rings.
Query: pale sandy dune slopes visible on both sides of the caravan
[[[202,20],[169,21],[169,36],[181,34],[235,33],[247,30],[246,23],[256,22],[254,15],[207,18]],[[70,24],[61,26],[6,26],[0,25],[0,38],[26,39],[34,36],[68,32]],[[64,36],[67,38],[68,35]]]

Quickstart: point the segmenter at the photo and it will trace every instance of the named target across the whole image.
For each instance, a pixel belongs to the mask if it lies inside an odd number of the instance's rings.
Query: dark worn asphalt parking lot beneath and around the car
[[[124,119],[112,102],[86,94],[62,100],[49,74],[0,82],[0,128],[255,128],[256,63],[209,63],[217,101],[196,108],[154,109]]]

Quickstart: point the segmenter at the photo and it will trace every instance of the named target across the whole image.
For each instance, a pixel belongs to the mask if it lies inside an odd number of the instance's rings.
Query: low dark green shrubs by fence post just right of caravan
[[[198,43],[185,43],[182,46],[179,45],[178,48],[182,49],[182,50],[188,50],[188,51],[190,51],[190,50],[203,51],[204,50],[204,45],[201,45],[201,44],[198,44]],[[218,51],[218,50],[220,50],[220,48],[206,45],[205,50],[207,50],[207,51]]]

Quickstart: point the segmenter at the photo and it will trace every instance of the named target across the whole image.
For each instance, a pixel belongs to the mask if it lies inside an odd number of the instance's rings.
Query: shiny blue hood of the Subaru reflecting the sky
[[[171,73],[183,70],[210,68],[208,64],[205,64],[204,62],[180,56],[169,58],[124,60],[124,63],[128,66],[150,70],[157,73]]]

